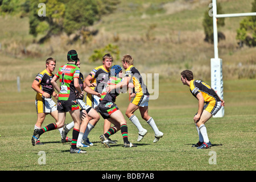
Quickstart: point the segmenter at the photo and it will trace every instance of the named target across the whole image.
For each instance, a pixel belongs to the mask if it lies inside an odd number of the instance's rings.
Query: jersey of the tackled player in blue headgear
[[[122,78],[118,78],[118,77],[112,76],[112,77],[109,78],[107,86],[108,85],[116,85],[116,84],[118,84],[121,81],[122,81]],[[119,93],[120,93],[120,89],[115,89],[115,90],[112,90],[110,93],[106,93],[106,88],[104,88],[104,90],[101,93],[101,100],[115,102],[115,98],[117,98]]]

